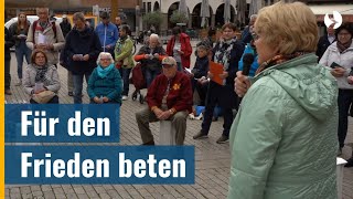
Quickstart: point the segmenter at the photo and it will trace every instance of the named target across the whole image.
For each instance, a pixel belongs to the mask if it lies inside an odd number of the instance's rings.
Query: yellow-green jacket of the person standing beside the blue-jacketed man
[[[127,36],[125,40],[119,38],[115,45],[115,61],[121,62],[124,69],[131,69],[135,66],[132,60],[132,48],[133,42],[130,36]]]

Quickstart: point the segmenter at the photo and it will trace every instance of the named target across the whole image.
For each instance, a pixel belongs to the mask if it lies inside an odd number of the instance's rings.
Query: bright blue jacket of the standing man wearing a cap
[[[118,28],[110,22],[108,23],[108,25],[105,25],[104,23],[99,23],[96,27],[95,31],[99,36],[101,46],[109,45],[110,50],[114,51],[115,44],[119,39]]]

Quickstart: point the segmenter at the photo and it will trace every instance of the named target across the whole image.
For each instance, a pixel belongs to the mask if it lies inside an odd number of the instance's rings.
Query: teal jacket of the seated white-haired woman
[[[87,93],[89,98],[106,96],[109,101],[121,104],[121,76],[113,69],[105,78],[98,76],[97,67],[89,76]]]

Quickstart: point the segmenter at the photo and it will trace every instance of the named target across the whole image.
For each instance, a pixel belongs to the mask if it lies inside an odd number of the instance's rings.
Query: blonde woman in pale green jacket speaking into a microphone
[[[252,83],[236,80],[238,94],[250,87],[231,128],[229,199],[338,198],[338,85],[317,63],[318,38],[301,2],[259,11],[260,66]]]

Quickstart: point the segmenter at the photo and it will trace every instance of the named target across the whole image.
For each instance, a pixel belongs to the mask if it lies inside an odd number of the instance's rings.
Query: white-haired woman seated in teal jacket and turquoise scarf
[[[115,67],[110,53],[101,52],[97,60],[97,67],[93,71],[87,92],[93,104],[121,104],[121,76]]]

